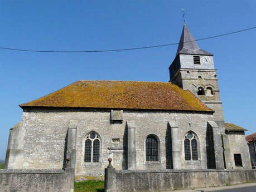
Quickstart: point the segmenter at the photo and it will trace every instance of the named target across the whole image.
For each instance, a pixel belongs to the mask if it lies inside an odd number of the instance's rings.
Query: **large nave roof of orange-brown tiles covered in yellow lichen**
[[[20,106],[214,112],[172,83],[142,81],[76,81]]]

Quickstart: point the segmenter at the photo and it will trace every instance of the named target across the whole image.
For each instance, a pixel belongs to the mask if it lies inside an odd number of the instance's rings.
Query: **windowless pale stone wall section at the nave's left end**
[[[64,111],[24,110],[22,169],[62,169],[70,119]]]

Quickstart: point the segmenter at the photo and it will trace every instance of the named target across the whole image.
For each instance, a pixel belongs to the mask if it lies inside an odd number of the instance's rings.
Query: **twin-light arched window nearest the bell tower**
[[[184,139],[185,160],[198,160],[197,139],[193,132],[187,132]],[[192,157],[192,158],[191,158]]]

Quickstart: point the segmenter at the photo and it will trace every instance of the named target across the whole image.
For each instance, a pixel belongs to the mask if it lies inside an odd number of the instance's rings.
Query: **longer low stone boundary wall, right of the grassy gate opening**
[[[143,192],[225,186],[256,182],[256,170],[105,169],[105,191]]]

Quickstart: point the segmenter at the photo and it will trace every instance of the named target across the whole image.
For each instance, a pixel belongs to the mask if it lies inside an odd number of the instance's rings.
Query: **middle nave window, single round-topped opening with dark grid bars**
[[[146,161],[158,161],[158,141],[153,135],[146,139]]]

